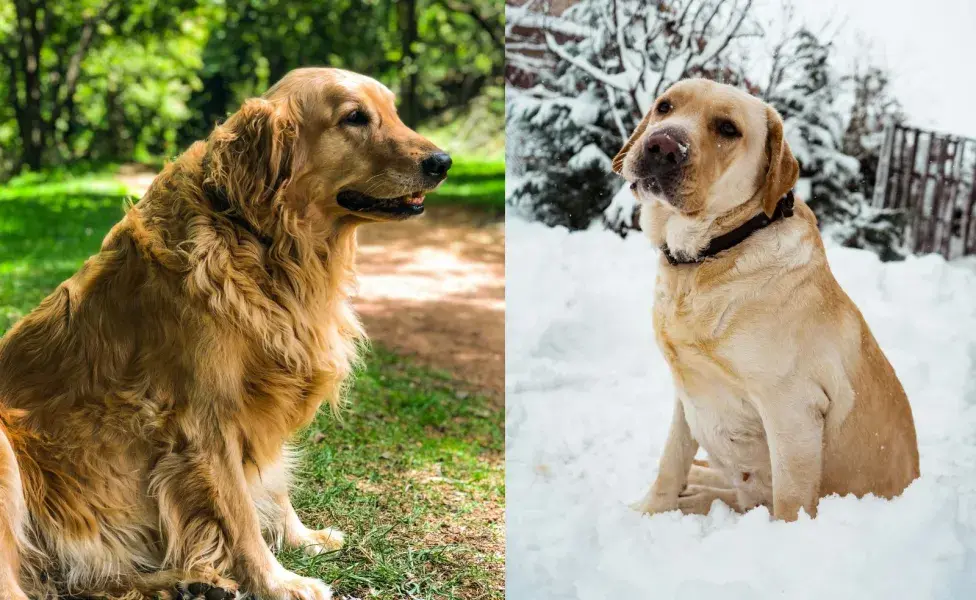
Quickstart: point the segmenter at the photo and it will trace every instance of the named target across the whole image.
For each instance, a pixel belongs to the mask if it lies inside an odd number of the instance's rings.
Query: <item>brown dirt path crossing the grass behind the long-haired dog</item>
[[[123,166],[141,196],[154,177]],[[461,207],[430,206],[359,233],[356,309],[371,340],[501,401],[505,386],[505,228]]]

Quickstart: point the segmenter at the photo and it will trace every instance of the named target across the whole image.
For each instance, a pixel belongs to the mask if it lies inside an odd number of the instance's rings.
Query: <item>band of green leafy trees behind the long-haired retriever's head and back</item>
[[[497,0],[0,0],[0,176],[173,156],[300,66],[438,120],[500,97],[502,19]]]

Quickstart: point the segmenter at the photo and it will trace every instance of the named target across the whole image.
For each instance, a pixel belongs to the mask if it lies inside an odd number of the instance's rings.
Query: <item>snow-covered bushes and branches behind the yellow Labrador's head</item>
[[[900,118],[884,72],[838,73],[824,34],[791,16],[770,48],[752,12],[751,0],[581,0],[558,15],[545,2],[509,6],[509,80],[524,88],[507,107],[509,157],[524,172],[509,202],[550,225],[602,220],[626,235],[635,201],[610,160],[661,92],[705,76],[780,111],[825,231],[900,256],[899,216],[868,206],[884,123]]]

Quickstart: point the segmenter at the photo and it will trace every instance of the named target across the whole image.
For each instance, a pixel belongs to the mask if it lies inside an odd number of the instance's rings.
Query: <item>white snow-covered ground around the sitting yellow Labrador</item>
[[[639,232],[511,217],[507,597],[976,598],[976,268],[831,248],[912,403],[922,477],[893,501],[831,497],[816,520],[756,509],[640,516],[671,417]]]

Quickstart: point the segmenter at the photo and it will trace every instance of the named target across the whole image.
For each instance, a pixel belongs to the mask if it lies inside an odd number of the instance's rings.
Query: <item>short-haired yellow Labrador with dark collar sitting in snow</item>
[[[908,399],[795,201],[798,164],[770,106],[678,82],[613,161],[661,248],[654,327],[676,399],[635,508],[776,519],[829,494],[891,498],[919,476]],[[794,215],[795,213],[795,215]],[[699,445],[708,461],[695,461]]]

